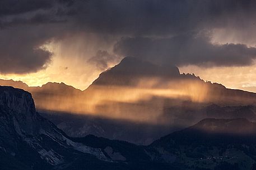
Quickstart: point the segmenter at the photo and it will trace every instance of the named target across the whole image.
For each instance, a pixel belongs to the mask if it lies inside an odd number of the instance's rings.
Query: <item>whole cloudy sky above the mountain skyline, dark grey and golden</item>
[[[85,89],[134,56],[256,86],[256,1],[0,1],[0,78]]]

